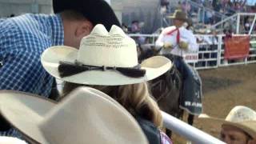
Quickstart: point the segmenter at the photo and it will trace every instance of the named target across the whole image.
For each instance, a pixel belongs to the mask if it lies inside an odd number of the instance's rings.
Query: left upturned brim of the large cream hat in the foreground
[[[54,102],[37,98],[33,94],[6,91],[0,92],[0,110],[12,126],[37,142],[47,143],[38,125],[42,116],[55,106]]]

